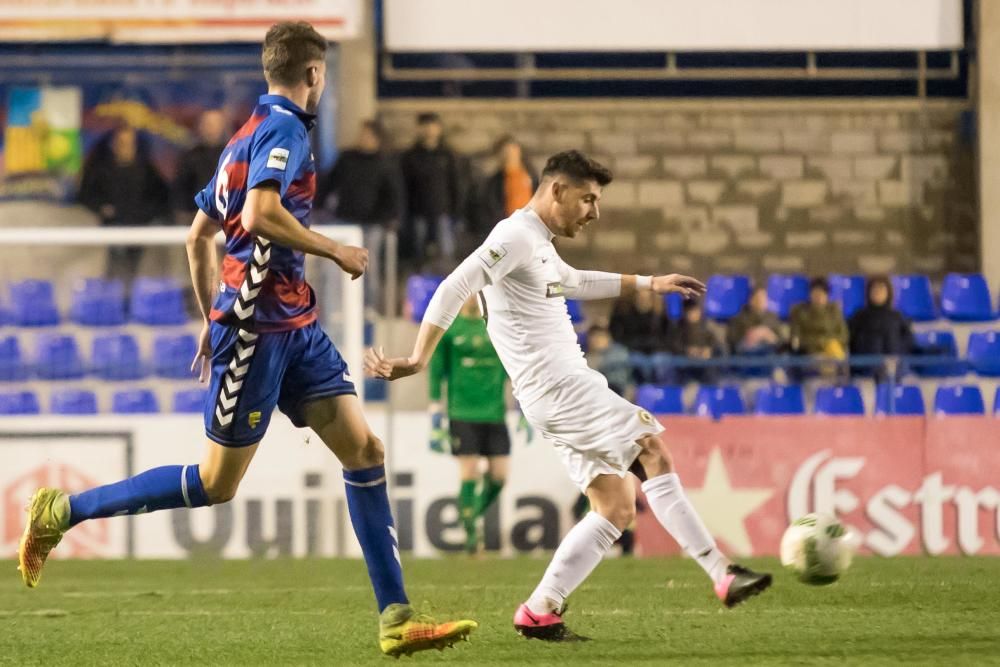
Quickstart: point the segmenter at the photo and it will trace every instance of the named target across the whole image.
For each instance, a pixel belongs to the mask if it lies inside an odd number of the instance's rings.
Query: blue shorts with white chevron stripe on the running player
[[[205,434],[220,445],[258,442],[274,406],[301,428],[302,406],[309,401],[357,393],[347,362],[316,322],[259,334],[212,322],[211,336]]]

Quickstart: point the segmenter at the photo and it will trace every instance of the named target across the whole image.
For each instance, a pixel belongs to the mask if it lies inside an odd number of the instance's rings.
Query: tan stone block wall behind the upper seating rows
[[[537,168],[579,148],[610,166],[602,219],[567,261],[697,275],[978,270],[974,146],[964,102],[391,101],[397,148],[434,110],[493,169],[510,133]]]

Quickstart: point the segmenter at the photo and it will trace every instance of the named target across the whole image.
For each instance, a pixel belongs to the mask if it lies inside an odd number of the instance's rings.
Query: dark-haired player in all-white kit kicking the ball
[[[479,292],[487,330],[525,417],[550,440],[592,511],[560,543],[531,597],[515,616],[522,635],[549,641],[582,639],[568,630],[566,598],[597,567],[635,517],[632,472],[653,514],[712,579],[727,607],[771,585],[771,575],[732,563],[695,512],[659,434],[660,423],[608,388],[577,344],[566,298],[610,299],[633,290],[676,292],[685,298],[705,286],[677,274],[637,276],[580,271],[566,264],[552,240],[573,238],[599,217],[611,172],[578,151],[549,158],[528,205],[499,222],[435,292],[409,357],[369,350],[365,368],[387,380],[426,368],[462,304]]]

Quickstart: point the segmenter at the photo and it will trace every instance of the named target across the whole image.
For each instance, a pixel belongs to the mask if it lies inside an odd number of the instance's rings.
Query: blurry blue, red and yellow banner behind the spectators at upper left
[[[122,125],[138,133],[138,159],[169,183],[179,155],[198,141],[203,112],[222,110],[235,131],[266,92],[256,47],[219,63],[120,48],[127,53],[53,51],[16,74],[17,62],[0,58],[0,201],[74,201],[88,161],[108,159],[111,131]]]

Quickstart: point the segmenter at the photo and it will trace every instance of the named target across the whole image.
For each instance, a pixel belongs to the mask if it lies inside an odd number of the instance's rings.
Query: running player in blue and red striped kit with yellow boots
[[[326,81],[326,40],[311,25],[278,23],[264,39],[268,93],[230,139],[195,202],[191,278],[205,325],[192,365],[209,381],[200,465],[164,466],[68,495],[39,489],[18,549],[21,576],[38,584],[49,552],[81,521],[202,507],[233,498],[277,406],[315,431],[344,467],[351,522],[380,612],[382,651],[399,656],[465,638],[474,621],[438,623],[406,596],[386,494],[384,450],[372,433],[347,364],[316,321],[305,254],[352,279],[368,252],[309,229],[316,173],[309,130]],[[226,236],[220,279],[215,236]]]

